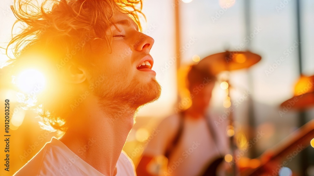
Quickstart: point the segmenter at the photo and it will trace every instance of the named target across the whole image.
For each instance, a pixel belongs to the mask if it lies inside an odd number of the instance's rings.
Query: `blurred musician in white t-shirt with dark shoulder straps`
[[[214,75],[191,66],[187,81],[192,105],[159,124],[160,132],[143,151],[136,169],[138,176],[224,175],[226,126],[217,127],[207,115],[215,80]],[[158,166],[162,156],[168,160],[166,167]]]

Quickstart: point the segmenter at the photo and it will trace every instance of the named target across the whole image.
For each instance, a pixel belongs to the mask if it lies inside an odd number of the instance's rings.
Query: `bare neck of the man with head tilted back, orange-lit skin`
[[[136,109],[113,102],[99,107],[95,99],[83,103],[69,117],[69,129],[60,141],[100,173],[114,176]]]

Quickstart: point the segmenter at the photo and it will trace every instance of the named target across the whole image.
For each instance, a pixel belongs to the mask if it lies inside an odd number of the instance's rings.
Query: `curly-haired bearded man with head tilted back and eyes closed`
[[[136,175],[122,148],[138,107],[161,91],[141,7],[141,0],[14,2],[24,28],[8,44],[15,56],[8,67],[48,72],[35,106],[47,126],[64,132],[15,176]]]

